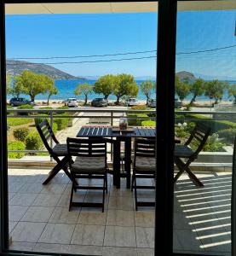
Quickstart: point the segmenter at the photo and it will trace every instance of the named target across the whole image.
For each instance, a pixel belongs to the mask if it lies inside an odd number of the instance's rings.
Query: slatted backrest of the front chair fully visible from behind
[[[67,150],[70,156],[106,158],[106,139],[104,138],[67,138]]]

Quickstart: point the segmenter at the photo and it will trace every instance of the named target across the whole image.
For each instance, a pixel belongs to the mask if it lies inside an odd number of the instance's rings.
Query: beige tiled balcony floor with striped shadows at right
[[[154,210],[134,211],[134,197],[112,186],[106,210],[73,208],[68,212],[71,183],[63,172],[43,186],[49,170],[9,170],[10,249],[90,255],[153,255]],[[184,175],[175,185],[174,249],[185,253],[230,252],[231,174],[198,173],[199,189]],[[83,181],[87,183],[88,181]],[[100,181],[89,181],[97,184]],[[147,180],[145,180],[147,182]],[[152,181],[150,181],[152,183]],[[98,201],[101,192],[78,191],[76,200]],[[143,200],[153,192],[142,191]]]

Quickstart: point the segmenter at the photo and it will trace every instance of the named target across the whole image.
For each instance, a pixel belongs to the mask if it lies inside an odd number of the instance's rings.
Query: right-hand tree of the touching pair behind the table
[[[117,96],[117,105],[122,96],[137,96],[138,92],[138,85],[132,75],[126,73],[117,75],[116,85],[113,90],[113,94]]]

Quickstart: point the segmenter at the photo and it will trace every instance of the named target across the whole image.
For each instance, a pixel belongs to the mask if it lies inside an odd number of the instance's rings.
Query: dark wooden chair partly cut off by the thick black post
[[[155,186],[137,185],[137,178],[155,178],[155,140],[136,139],[131,190],[135,189],[135,210],[138,207],[154,207],[154,202],[138,201],[137,189],[155,189]]]

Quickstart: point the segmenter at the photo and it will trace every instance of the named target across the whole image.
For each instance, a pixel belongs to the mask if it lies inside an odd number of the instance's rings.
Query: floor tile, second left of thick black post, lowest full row
[[[136,247],[135,228],[106,226],[104,246]]]

